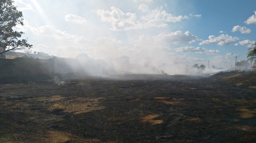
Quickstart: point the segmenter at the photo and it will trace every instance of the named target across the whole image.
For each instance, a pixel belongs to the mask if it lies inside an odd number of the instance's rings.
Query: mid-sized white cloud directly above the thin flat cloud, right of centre
[[[189,31],[182,33],[182,31],[176,31],[169,34],[161,33],[155,36],[155,42],[157,43],[172,43],[182,44],[191,43],[198,40],[197,36],[192,35]]]

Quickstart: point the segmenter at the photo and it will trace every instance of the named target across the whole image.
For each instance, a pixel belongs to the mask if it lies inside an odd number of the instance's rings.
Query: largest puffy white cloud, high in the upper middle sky
[[[188,17],[179,15],[174,16],[167,13],[161,8],[154,10],[148,10],[147,5],[141,4],[139,7],[142,11],[148,11],[147,15],[137,19],[135,13],[124,13],[122,10],[116,7],[111,7],[111,10],[96,10],[93,11],[97,15],[101,16],[101,21],[111,23],[113,31],[128,31],[131,29],[145,29],[150,27],[166,28],[167,22],[180,22]]]

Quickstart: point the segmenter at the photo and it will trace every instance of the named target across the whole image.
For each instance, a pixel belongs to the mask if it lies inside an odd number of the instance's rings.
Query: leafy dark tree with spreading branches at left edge
[[[24,32],[14,29],[16,25],[24,24],[22,11],[18,11],[13,3],[13,0],[0,0],[0,56],[10,50],[30,49],[33,46],[27,43],[27,39],[20,39]]]

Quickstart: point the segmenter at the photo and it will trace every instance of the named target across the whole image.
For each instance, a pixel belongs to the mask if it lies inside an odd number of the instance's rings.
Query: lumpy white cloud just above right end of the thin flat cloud
[[[202,41],[201,43],[199,43],[199,45],[208,45],[208,44],[214,44],[214,43],[218,43],[218,45],[221,45],[221,46],[231,45],[236,40],[239,40],[239,38],[232,37],[227,34],[226,35],[221,34],[218,37],[210,35],[209,40]]]

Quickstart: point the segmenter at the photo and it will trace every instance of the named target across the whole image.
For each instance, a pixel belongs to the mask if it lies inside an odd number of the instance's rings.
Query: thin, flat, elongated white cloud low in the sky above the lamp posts
[[[176,52],[190,52],[190,53],[220,53],[219,50],[206,50],[205,48],[186,46],[175,49]]]

